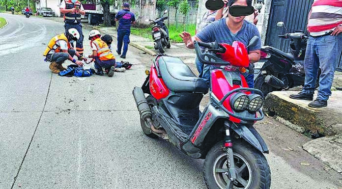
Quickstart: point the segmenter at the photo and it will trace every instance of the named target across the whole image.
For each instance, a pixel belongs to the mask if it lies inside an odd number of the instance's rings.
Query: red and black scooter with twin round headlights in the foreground
[[[246,47],[196,41],[195,47],[201,62],[221,68],[211,72],[208,83],[181,59],[158,54],[142,87],[133,90],[143,133],[205,159],[209,189],[269,189],[271,173],[263,155],[268,148],[253,127],[264,117],[263,95],[248,88],[241,75],[249,65]],[[210,101],[201,112],[199,103],[208,91]]]

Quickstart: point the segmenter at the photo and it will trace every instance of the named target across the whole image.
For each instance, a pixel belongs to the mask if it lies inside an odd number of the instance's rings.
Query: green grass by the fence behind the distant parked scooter
[[[183,42],[182,38],[179,37],[179,34],[183,31],[187,31],[191,33],[191,35],[195,35],[196,32],[196,24],[190,25],[170,25],[169,27],[170,39],[172,42],[181,43]],[[131,28],[132,35],[142,36],[144,38],[148,38],[152,40],[151,27],[132,27]]]

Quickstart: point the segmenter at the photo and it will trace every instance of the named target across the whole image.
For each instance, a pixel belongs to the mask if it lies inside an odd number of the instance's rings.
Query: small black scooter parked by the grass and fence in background
[[[153,25],[152,38],[154,40],[154,49],[159,50],[160,53],[165,53],[165,47],[171,48],[169,30],[164,24],[164,21],[168,19],[168,17],[164,17],[166,13],[168,13],[168,10],[165,10],[163,16],[155,21],[146,20],[146,22],[151,22],[150,25]]]

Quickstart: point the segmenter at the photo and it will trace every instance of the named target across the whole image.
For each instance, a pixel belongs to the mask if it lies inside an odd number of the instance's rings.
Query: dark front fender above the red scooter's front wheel
[[[262,139],[262,137],[257,133],[256,129],[253,126],[245,126],[245,125],[236,125],[234,123],[225,122],[228,127],[230,127],[237,135],[239,135],[241,138],[246,140],[249,144],[251,144],[253,147],[255,147],[257,150],[259,150],[262,153],[268,154],[268,148],[265,143],[265,141]]]

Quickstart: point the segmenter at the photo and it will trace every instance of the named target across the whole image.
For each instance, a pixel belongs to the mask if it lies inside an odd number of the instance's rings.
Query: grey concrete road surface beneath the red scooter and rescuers
[[[206,188],[202,160],[142,134],[131,91],[142,84],[150,57],[131,47],[127,60],[134,67],[126,73],[59,77],[42,53],[63,25],[22,15],[0,17],[9,22],[0,29],[0,189]],[[89,54],[88,40],[84,44]],[[271,143],[266,156],[272,189],[339,187],[339,174],[317,172],[321,164],[312,157],[316,167],[293,165],[276,150],[281,145]]]

